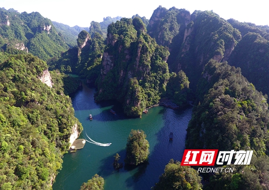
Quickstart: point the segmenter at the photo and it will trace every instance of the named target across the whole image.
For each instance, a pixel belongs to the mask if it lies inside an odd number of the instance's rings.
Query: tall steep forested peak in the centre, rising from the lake
[[[137,17],[112,23],[107,42],[96,100],[118,100],[127,115],[141,116],[146,106],[158,102],[165,88],[168,49],[146,34],[143,21]]]

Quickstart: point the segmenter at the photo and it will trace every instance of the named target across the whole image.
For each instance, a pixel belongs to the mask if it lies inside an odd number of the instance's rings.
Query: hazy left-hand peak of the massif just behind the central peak
[[[170,56],[167,63],[172,65],[176,62],[179,55],[179,49],[182,43],[189,40],[189,34],[192,32],[191,14],[185,9],[177,9],[175,7],[167,10],[159,6],[153,13],[150,24],[148,25],[148,33],[156,39],[156,42],[169,48]],[[186,44],[182,51],[187,51],[190,45]],[[175,71],[179,71],[175,69]]]

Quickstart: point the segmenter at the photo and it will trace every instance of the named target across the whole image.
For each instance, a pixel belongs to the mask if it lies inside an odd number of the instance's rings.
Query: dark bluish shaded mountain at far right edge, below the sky
[[[228,62],[240,67],[242,74],[257,90],[269,95],[269,26],[256,26],[238,21],[233,21],[232,25],[244,36]]]

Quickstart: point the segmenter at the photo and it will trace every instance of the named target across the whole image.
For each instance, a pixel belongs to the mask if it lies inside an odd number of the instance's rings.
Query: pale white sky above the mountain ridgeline
[[[213,10],[224,19],[233,18],[256,25],[269,25],[267,0],[0,0],[0,7],[13,8],[20,13],[39,12],[51,21],[69,26],[89,27],[91,21],[101,22],[105,17],[145,16],[147,19],[159,5],[176,7],[193,13],[195,10]]]

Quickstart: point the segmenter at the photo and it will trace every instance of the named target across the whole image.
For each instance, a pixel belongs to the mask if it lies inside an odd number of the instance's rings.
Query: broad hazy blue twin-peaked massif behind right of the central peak
[[[238,30],[212,11],[195,11],[190,15],[184,9],[172,7],[165,12],[158,7],[150,21],[151,36],[169,47],[170,68],[186,72],[193,88],[204,65],[210,59],[226,61],[241,39]]]

